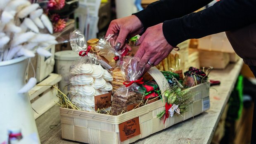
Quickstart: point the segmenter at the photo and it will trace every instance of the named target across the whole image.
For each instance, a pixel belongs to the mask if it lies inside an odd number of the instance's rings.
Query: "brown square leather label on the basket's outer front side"
[[[140,121],[139,117],[130,119],[119,124],[120,140],[121,142],[140,135]]]

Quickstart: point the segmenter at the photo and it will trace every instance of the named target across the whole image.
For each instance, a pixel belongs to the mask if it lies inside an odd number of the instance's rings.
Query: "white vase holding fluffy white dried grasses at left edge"
[[[25,85],[27,66],[24,56],[0,62],[0,143],[7,142],[12,128],[20,129],[24,138],[35,134],[40,143],[28,93],[18,93]]]

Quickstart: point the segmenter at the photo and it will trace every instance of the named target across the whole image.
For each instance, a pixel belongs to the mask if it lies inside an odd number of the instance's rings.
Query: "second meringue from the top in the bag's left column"
[[[75,75],[70,78],[70,83],[73,86],[92,84],[93,81],[94,81],[94,79],[90,75],[87,75],[87,74],[79,74],[79,75]]]

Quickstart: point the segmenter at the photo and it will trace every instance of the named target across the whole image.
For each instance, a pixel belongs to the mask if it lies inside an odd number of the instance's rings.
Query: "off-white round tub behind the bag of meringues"
[[[59,82],[59,88],[64,93],[69,93],[69,67],[74,60],[80,58],[78,53],[71,50],[58,51],[55,53],[55,72],[62,75],[62,80]],[[66,86],[66,87],[65,87]]]

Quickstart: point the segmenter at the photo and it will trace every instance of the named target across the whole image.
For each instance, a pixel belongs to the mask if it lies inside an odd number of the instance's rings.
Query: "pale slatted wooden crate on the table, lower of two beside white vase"
[[[35,119],[45,113],[52,106],[59,102],[59,98],[56,96],[56,89],[52,86],[38,86],[38,85],[56,85],[62,79],[61,75],[51,73],[49,77],[41,81],[28,91],[28,96],[33,108],[33,114]]]

